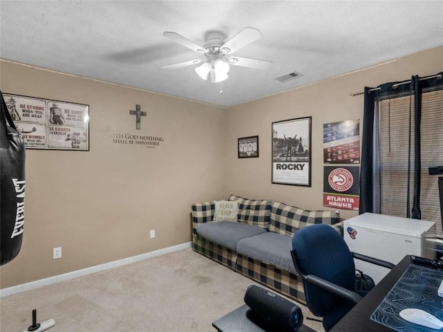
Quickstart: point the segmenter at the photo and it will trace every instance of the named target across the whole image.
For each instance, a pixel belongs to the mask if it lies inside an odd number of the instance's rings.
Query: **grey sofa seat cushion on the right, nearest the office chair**
[[[244,238],[237,243],[237,253],[296,274],[291,249],[291,236],[271,232]]]

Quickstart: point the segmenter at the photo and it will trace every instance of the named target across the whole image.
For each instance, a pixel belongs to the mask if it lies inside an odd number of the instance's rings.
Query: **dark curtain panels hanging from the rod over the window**
[[[361,141],[361,168],[360,168],[360,207],[359,213],[373,212],[379,213],[379,207],[377,207],[376,199],[378,195],[377,181],[377,146],[374,146],[374,142],[377,142],[378,128],[377,128],[377,105],[383,98],[395,98],[400,96],[414,96],[414,107],[410,107],[410,112],[414,112],[414,122],[410,123],[409,132],[415,131],[415,159],[414,159],[414,198],[412,214],[413,218],[421,218],[421,211],[419,207],[420,203],[420,172],[421,172],[421,159],[420,159],[420,124],[422,118],[422,93],[423,90],[431,91],[433,87],[435,89],[442,86],[442,74],[443,71],[437,73],[437,78],[419,78],[419,76],[413,76],[410,79],[410,84],[405,82],[389,82],[379,87],[365,87],[364,91],[364,104],[363,104],[363,129],[362,129],[362,141]],[[414,111],[413,111],[414,110]],[[412,119],[412,116],[410,116]],[[411,142],[410,142],[411,143]],[[410,168],[410,162],[408,168]],[[409,200],[409,195],[407,200]],[[410,202],[407,203],[408,211],[407,217],[410,218]]]

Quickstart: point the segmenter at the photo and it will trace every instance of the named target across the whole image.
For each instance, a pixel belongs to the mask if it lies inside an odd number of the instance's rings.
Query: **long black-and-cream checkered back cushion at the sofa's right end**
[[[334,225],[339,221],[340,215],[335,211],[308,211],[284,203],[273,202],[269,231],[292,236],[307,224]]]

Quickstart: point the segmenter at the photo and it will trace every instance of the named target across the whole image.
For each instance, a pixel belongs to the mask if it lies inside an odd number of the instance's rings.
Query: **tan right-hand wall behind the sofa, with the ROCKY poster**
[[[377,87],[385,82],[408,80],[416,74],[427,76],[442,70],[443,47],[440,47],[231,107],[226,134],[227,194],[270,198],[303,209],[328,209],[323,207],[323,123],[363,119],[363,96],[349,94],[363,91],[365,86]],[[311,187],[271,184],[271,123],[304,116],[312,116]],[[238,159],[237,139],[253,135],[259,135],[260,157]],[[344,218],[356,214],[341,210]]]

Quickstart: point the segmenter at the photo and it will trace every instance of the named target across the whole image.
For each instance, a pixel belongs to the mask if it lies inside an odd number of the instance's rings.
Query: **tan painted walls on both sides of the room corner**
[[[0,288],[188,242],[192,202],[233,193],[326,209],[323,123],[362,119],[363,97],[351,92],[442,69],[440,47],[224,110],[0,62],[3,92],[85,103],[91,113],[89,152],[26,150],[24,243],[0,268]],[[136,103],[148,112],[140,133],[165,137],[160,148],[111,143],[112,133],[137,134],[128,114]],[[312,116],[312,186],[271,184],[271,123],[302,116]],[[256,134],[260,157],[237,159],[237,138]],[[58,246],[63,257],[53,260]]]

